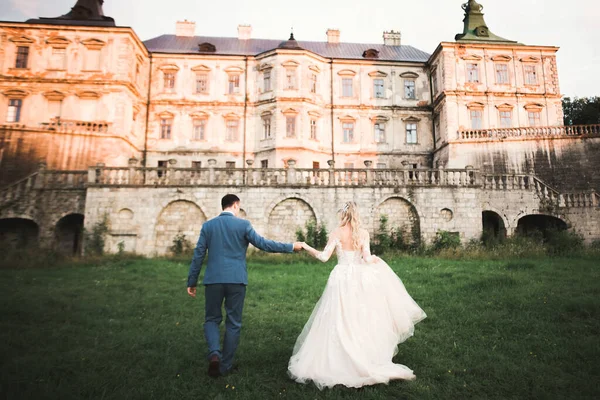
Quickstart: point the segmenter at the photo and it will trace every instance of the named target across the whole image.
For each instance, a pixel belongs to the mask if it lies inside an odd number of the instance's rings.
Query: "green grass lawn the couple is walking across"
[[[592,258],[389,260],[428,314],[396,361],[417,380],[320,392],[287,362],[333,263],[255,258],[236,374],[206,376],[203,296],[188,264],[107,259],[0,270],[7,399],[600,398],[600,266]],[[42,267],[42,266],[40,266]]]

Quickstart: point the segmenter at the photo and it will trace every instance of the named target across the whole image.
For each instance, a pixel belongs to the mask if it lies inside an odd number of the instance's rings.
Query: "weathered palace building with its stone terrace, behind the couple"
[[[141,41],[98,0],[0,22],[0,239],[78,251],[81,226],[107,216],[110,250],[164,253],[231,191],[286,239],[332,228],[353,198],[371,231],[385,214],[425,241],[548,224],[599,238],[600,127],[563,126],[558,48],[463,9],[432,55],[394,31],[224,38],[189,21]]]

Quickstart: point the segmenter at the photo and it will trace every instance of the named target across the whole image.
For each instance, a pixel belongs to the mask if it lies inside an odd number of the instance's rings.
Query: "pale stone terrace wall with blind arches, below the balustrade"
[[[337,210],[349,200],[359,204],[363,226],[371,233],[379,217],[388,215],[389,227],[410,230],[418,224],[430,242],[438,230],[459,232],[463,240],[481,234],[478,188],[88,188],[85,225],[91,229],[104,215],[111,232],[108,249],[118,243],[141,254],[164,254],[179,232],[195,244],[202,222],[217,216],[221,197],[236,193],[245,218],[262,235],[293,241],[309,220],[331,232]],[[124,211],[126,210],[126,211]],[[123,213],[128,228],[122,228]],[[118,228],[117,228],[118,226]],[[158,244],[158,245],[157,245]]]

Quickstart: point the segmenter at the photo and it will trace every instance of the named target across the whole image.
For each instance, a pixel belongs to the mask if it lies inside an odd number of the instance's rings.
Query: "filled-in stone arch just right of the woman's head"
[[[383,200],[374,210],[372,232],[379,229],[380,218],[386,215],[388,229],[400,229],[408,242],[416,244],[421,238],[421,218],[416,207],[400,196]]]

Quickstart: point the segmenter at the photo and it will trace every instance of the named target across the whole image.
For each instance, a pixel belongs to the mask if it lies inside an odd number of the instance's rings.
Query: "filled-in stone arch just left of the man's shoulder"
[[[175,200],[162,209],[156,220],[155,251],[167,254],[173,245],[173,239],[183,234],[194,246],[198,240],[206,215],[196,203],[188,200]]]

